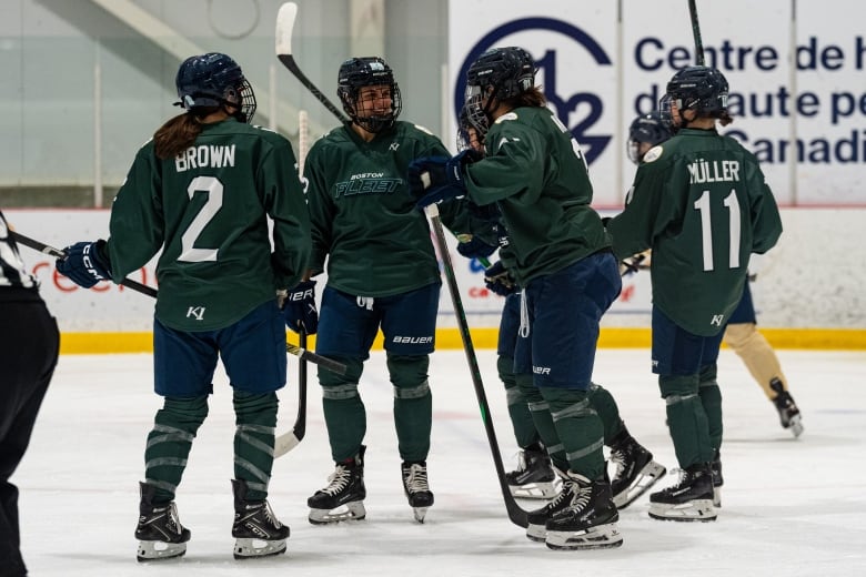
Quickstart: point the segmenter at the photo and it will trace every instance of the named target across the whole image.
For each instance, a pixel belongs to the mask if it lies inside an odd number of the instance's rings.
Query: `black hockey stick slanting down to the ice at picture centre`
[[[479,399],[479,408],[481,408],[481,418],[484,422],[484,431],[487,433],[487,442],[490,443],[490,451],[493,454],[493,464],[496,467],[496,477],[500,482],[502,496],[505,500],[505,509],[508,512],[508,518],[512,523],[520,527],[526,527],[528,525],[526,512],[517,505],[516,500],[514,500],[514,496],[511,494],[508,484],[505,480],[505,467],[502,465],[500,444],[496,441],[496,432],[493,428],[487,395],[484,393],[484,383],[481,379],[479,360],[475,356],[475,348],[472,345],[472,335],[470,334],[469,324],[466,323],[466,313],[463,310],[463,303],[460,298],[457,280],[454,276],[454,266],[451,263],[451,253],[449,252],[447,244],[445,244],[445,233],[442,230],[442,221],[439,217],[439,207],[435,204],[431,204],[424,209],[424,212],[426,212],[433,223],[433,236],[436,240],[436,247],[442,257],[442,267],[445,271],[449,292],[451,293],[451,302],[454,306],[454,315],[457,317],[460,336],[463,340],[463,351],[466,353],[466,361],[469,362],[470,372],[472,373],[472,384],[475,387],[475,396]]]

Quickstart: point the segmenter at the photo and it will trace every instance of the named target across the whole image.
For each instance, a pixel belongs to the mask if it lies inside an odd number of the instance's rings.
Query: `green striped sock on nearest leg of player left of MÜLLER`
[[[568,469],[592,480],[602,478],[605,472],[604,427],[587,398],[590,392],[544,387],[541,393],[551,407]]]

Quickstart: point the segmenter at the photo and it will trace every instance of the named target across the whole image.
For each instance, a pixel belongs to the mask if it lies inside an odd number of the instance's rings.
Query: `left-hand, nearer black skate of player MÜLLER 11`
[[[650,495],[650,516],[662,520],[716,520],[713,470],[698,463],[679,470],[679,482]]]

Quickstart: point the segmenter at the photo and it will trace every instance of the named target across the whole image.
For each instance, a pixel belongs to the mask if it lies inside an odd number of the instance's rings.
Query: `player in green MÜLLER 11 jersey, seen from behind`
[[[766,252],[782,233],[755,156],[716,131],[717,121],[732,122],[727,91],[715,68],[674,74],[662,112],[679,130],[644,154],[625,210],[607,223],[618,255],[653,250],[653,372],[682,469],[676,485],[650,496],[657,519],[717,516],[711,463],[722,444],[718,347],[751,253]]]

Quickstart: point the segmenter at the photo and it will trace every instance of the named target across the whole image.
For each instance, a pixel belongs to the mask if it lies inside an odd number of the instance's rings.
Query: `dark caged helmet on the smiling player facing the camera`
[[[361,89],[382,85],[391,90],[391,109],[384,114],[360,115],[358,104]],[[393,126],[403,110],[394,71],[379,57],[351,58],[343,62],[336,80],[336,95],[352,121],[373,133]]]

